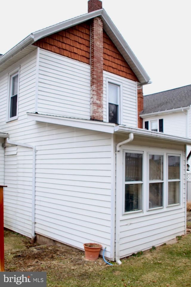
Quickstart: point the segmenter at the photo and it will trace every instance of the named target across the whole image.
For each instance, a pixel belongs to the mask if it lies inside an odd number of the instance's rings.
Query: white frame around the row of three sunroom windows
[[[142,153],[143,154],[143,186],[142,186],[142,210],[127,211],[125,210],[125,153]],[[153,207],[149,208],[149,154],[163,155],[163,207]],[[177,204],[168,205],[168,155],[180,156],[180,202]],[[136,216],[156,214],[158,212],[165,212],[168,210],[177,210],[183,207],[183,161],[184,153],[182,151],[173,152],[170,149],[165,149],[160,152],[158,148],[147,148],[139,146],[123,146],[123,153],[121,154],[121,164],[123,168],[121,169],[121,219],[133,218],[134,214]],[[118,168],[118,167],[116,167]],[[137,183],[137,182],[136,182]]]

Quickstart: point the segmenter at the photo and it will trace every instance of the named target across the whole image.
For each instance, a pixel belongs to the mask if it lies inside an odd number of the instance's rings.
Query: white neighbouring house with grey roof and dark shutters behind
[[[140,113],[143,128],[191,138],[191,85],[144,96]],[[191,180],[191,146],[187,146],[188,178]],[[187,194],[191,200],[191,188]]]

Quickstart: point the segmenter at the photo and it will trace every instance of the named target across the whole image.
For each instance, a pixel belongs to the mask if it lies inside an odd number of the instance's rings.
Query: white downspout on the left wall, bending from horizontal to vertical
[[[32,172],[32,230],[31,230],[31,243],[35,240],[35,179],[36,179],[36,147],[30,144],[23,144],[16,141],[10,141],[6,138],[7,144],[12,144],[15,146],[24,146],[33,149],[33,172]]]

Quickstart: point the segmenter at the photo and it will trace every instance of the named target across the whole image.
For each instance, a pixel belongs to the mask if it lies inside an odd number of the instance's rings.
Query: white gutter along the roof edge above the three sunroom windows
[[[167,140],[178,142],[182,144],[189,144],[191,145],[191,139],[189,138],[181,138],[174,135],[167,135],[162,132],[153,132],[146,129],[138,129],[138,128],[130,128],[126,126],[118,125],[115,127],[115,133],[133,133],[134,135],[144,136],[148,138],[157,138],[158,140]]]

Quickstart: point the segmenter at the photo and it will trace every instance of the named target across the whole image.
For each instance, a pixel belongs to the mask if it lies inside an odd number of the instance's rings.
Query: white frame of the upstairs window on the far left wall
[[[16,120],[18,119],[18,108],[19,108],[19,75],[20,75],[20,71],[19,71],[19,67],[14,69],[13,71],[11,71],[8,74],[8,91],[7,91],[7,122],[8,121],[12,121],[12,120]],[[17,112],[16,112],[16,116],[14,117],[10,117],[10,108],[11,108],[11,91],[12,91],[12,80],[13,77],[15,77],[16,75],[18,75],[18,90],[17,90]]]

